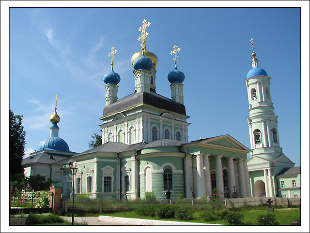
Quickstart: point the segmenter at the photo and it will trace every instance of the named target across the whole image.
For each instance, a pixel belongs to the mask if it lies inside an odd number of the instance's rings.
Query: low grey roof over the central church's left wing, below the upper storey
[[[119,153],[119,152],[124,152],[128,150],[140,150],[143,148],[146,144],[145,143],[137,143],[133,145],[125,145],[124,143],[114,143],[114,142],[108,142],[105,144],[102,144],[100,146],[94,147],[90,150],[86,150],[82,153],[79,153],[76,156],[79,155],[84,155],[84,154],[90,154],[93,152],[114,152],[114,153]]]

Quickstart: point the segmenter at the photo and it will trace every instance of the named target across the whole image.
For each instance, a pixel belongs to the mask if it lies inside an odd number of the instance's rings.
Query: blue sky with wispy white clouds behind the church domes
[[[10,37],[6,38],[10,43],[9,61],[4,67],[9,67],[6,74],[9,80],[5,80],[9,82],[2,85],[1,78],[1,105],[4,101],[8,104],[5,111],[10,108],[14,114],[23,115],[26,152],[36,150],[39,142],[49,136],[49,118],[56,94],[59,96],[57,113],[61,117],[59,136],[71,151],[89,149],[91,135],[100,130],[99,118],[105,104],[102,79],[111,68],[108,56],[111,47],[118,50],[114,71],[121,76],[118,90],[121,99],[134,92],[130,58],[140,51],[138,29],[146,19],[151,23],[146,46],[159,60],[156,92],[168,98],[171,91],[167,75],[174,68],[170,51],[174,44],[181,48],[177,62],[186,77],[184,102],[191,123],[188,141],[230,134],[250,148],[244,81],[251,69],[250,39],[254,38],[259,66],[271,77],[280,145],[295,166],[300,166],[300,93],[304,90],[309,94],[308,88],[301,89],[301,80],[302,86],[309,87],[309,60],[301,63],[301,32],[305,30],[300,25],[300,8],[197,6],[11,8],[5,18],[10,26]],[[309,35],[309,30],[306,33]],[[309,37],[304,42],[309,52]],[[302,64],[308,64],[306,75],[302,73],[306,80],[301,77]],[[3,86],[9,93],[3,93]],[[309,113],[308,101],[306,112]],[[2,110],[1,106],[1,125]],[[305,122],[309,120],[307,117]],[[305,126],[307,129],[309,123]]]

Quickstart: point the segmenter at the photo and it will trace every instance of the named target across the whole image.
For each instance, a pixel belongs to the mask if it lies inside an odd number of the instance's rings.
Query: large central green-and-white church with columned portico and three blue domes
[[[201,198],[214,188],[222,194],[228,190],[230,197],[249,197],[246,146],[228,134],[188,142],[185,75],[177,68],[181,49],[176,45],[171,51],[175,68],[168,74],[171,99],[156,93],[158,58],[146,49],[149,26],[143,20],[141,50],[131,58],[134,92],[119,100],[121,77],[113,71],[117,50],[112,47],[111,71],[103,78],[102,145],[71,157],[63,166],[63,197],[69,198],[73,190],[71,166],[78,168],[74,193],[93,198],[134,199],[153,192],[163,199],[169,189],[171,198]]]

